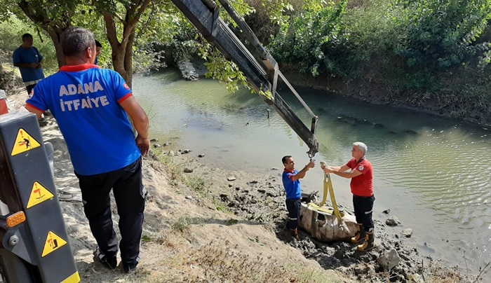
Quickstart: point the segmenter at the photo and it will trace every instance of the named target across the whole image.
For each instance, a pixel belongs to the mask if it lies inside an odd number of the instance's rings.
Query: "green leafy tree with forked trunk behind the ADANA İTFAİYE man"
[[[253,11],[243,0],[234,1],[234,6],[241,14]],[[114,70],[119,72],[131,85],[133,79],[133,55],[142,52],[142,46],[152,41],[172,41],[173,36],[182,30],[183,25],[189,25],[186,19],[178,13],[177,8],[166,0],[0,0],[0,16],[15,14],[18,18],[34,22],[36,26],[44,29],[51,37],[58,64],[65,64],[60,46],[60,35],[67,28],[74,25],[88,27],[96,34],[102,34],[105,29],[107,43],[111,46],[111,60]],[[229,20],[223,13],[224,19]],[[102,27],[100,23],[103,22]],[[200,36],[194,35],[194,39]],[[140,49],[135,48],[135,39],[139,39]],[[191,38],[192,39],[192,38]],[[233,64],[224,64],[222,60],[215,60],[218,55],[213,47],[197,41],[189,44],[191,50],[206,51],[210,60],[209,68],[214,71],[223,67],[222,76],[214,75],[222,81],[245,81],[243,76],[233,74]]]

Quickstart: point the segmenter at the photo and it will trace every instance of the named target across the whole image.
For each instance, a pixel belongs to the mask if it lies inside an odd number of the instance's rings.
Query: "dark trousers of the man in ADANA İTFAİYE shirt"
[[[140,261],[140,240],[142,237],[143,211],[147,191],[142,184],[142,159],[120,170],[79,177],[85,212],[90,230],[99,249],[108,258],[118,252],[114,232],[109,192],[113,189],[114,200],[119,214],[121,232],[121,260],[131,269]]]

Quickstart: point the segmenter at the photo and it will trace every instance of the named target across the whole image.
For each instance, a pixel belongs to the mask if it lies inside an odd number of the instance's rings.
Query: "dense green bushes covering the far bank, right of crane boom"
[[[311,76],[377,83],[415,106],[458,101],[455,117],[491,115],[490,39],[480,38],[491,32],[491,0],[304,3],[269,44],[279,62]]]

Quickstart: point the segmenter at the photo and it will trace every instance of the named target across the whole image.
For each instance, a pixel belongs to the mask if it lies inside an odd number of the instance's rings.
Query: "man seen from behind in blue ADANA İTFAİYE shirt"
[[[123,78],[94,64],[95,39],[75,27],[62,34],[67,65],[40,81],[26,109],[39,117],[51,109],[67,142],[98,248],[94,255],[116,268],[118,239],[114,232],[109,192],[114,193],[125,272],[140,261],[140,240],[147,191],[142,184],[142,158],[150,149],[149,119]],[[137,137],[128,120],[133,120]]]

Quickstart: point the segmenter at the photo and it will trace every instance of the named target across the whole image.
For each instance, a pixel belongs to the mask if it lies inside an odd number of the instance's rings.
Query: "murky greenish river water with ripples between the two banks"
[[[307,146],[260,97],[230,94],[216,81],[187,82],[175,71],[135,77],[133,90],[151,118],[152,137],[207,153],[215,167],[278,174],[281,157],[308,163]],[[372,105],[348,97],[297,88],[318,115],[317,160],[342,165],[351,144],[368,145],[375,171],[375,218],[390,208],[414,234],[406,241],[451,264],[484,266],[491,258],[491,130],[424,113]],[[281,92],[310,127],[293,95]],[[318,167],[303,180],[305,191],[322,191]],[[351,206],[349,180],[333,179],[339,202]],[[461,248],[461,249],[459,249]],[[484,263],[484,264],[483,264]]]

